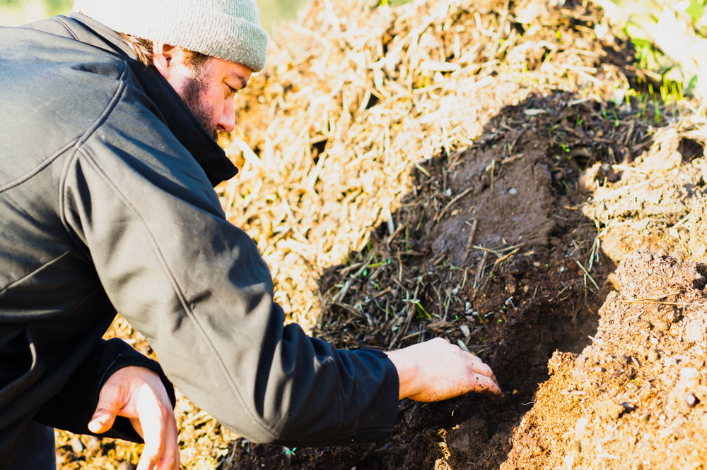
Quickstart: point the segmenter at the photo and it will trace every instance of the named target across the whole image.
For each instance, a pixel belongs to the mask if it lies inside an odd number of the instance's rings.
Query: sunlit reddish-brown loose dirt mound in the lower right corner
[[[592,344],[553,354],[501,468],[702,468],[705,272],[650,251],[626,256]]]

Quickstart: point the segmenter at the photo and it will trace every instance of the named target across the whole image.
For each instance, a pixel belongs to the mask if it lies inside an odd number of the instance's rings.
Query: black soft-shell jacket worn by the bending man
[[[392,429],[385,354],[284,327],[212,187],[235,172],[115,32],[80,15],[0,28],[0,468],[30,420],[86,433],[112,371],[159,371],[100,340],[116,311],[187,397],[251,440]],[[125,424],[112,435],[136,439]]]

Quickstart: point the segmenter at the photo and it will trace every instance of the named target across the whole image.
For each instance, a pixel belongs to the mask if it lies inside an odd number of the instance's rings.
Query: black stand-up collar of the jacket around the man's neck
[[[204,126],[201,126],[172,85],[156,68],[147,67],[137,60],[132,49],[117,32],[81,13],[71,13],[69,18],[57,19],[64,23],[77,40],[118,54],[127,61],[146,95],[162,113],[160,117],[204,169],[213,186],[233,178],[238,173],[238,168],[226,157],[226,152]]]

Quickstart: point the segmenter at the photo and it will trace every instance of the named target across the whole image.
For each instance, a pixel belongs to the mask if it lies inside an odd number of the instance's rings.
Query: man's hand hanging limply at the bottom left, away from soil
[[[136,470],[179,470],[177,421],[159,375],[139,366],[113,373],[100,390],[88,430],[105,433],[116,416],[129,418],[145,440]]]

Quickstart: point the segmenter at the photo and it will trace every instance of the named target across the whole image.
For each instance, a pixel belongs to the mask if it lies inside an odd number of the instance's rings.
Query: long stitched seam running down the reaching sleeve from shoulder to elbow
[[[85,141],[85,140],[84,140]],[[234,378],[232,375],[230,375],[230,372],[228,370],[228,367],[226,367],[226,364],[223,361],[223,358],[221,357],[221,354],[219,354],[218,349],[214,346],[214,343],[211,342],[211,338],[209,338],[209,335],[206,334],[206,330],[204,327],[201,325],[199,320],[197,319],[197,316],[194,315],[194,312],[192,311],[191,308],[188,306],[188,302],[185,298],[184,293],[182,292],[182,289],[180,288],[179,283],[177,282],[177,279],[175,275],[173,274],[173,271],[170,268],[170,265],[167,263],[167,259],[163,255],[159,244],[157,243],[156,237],[152,233],[150,227],[146,223],[145,218],[142,216],[142,214],[137,210],[137,208],[131,203],[129,198],[127,198],[127,195],[125,195],[119,188],[119,186],[110,179],[110,176],[108,176],[103,169],[100,168],[100,165],[98,162],[95,161],[93,158],[93,155],[90,154],[90,150],[86,147],[80,147],[78,148],[78,153],[81,153],[84,157],[86,157],[87,161],[93,167],[95,170],[96,174],[100,176],[103,181],[105,181],[110,187],[113,188],[115,193],[119,196],[120,200],[123,201],[123,203],[130,208],[136,215],[136,217],[139,219],[141,224],[145,227],[145,230],[150,236],[151,242],[154,246],[154,249],[158,255],[158,259],[160,260],[161,264],[163,265],[163,269],[165,270],[165,273],[168,275],[168,279],[170,279],[170,284],[172,284],[173,289],[175,291],[175,296],[177,296],[177,299],[179,299],[180,304],[182,305],[182,309],[185,311],[187,314],[187,318],[191,319],[194,322],[194,325],[196,325],[199,329],[199,332],[201,333],[201,337],[203,337],[206,340],[206,344],[209,345],[209,348],[211,349],[212,353],[216,358],[218,358],[218,363],[221,365],[221,369],[223,370],[224,374],[226,377],[228,377],[228,381],[230,382],[231,387],[233,388],[233,391],[235,392],[236,396],[238,399],[240,399],[241,405],[243,406],[243,409],[246,411],[247,414],[250,414],[250,417],[255,421],[255,423],[258,424],[263,430],[267,431],[273,438],[279,438],[279,435],[274,431],[274,429],[270,428],[269,426],[266,426],[266,424],[262,421],[262,419],[257,416],[257,414],[254,414],[252,410],[250,410],[249,406],[247,406],[247,402],[243,398],[243,394],[240,392],[240,389],[238,387],[238,384],[235,382]]]

